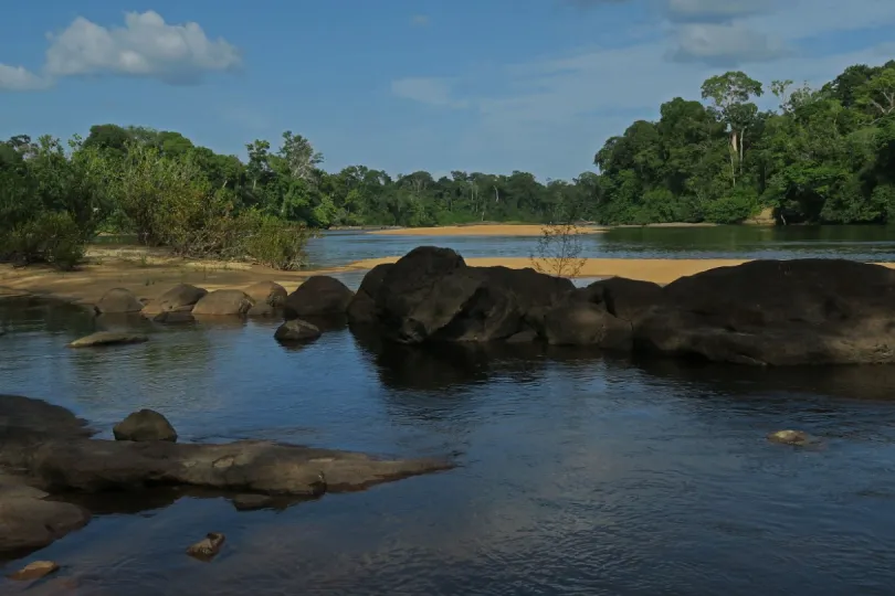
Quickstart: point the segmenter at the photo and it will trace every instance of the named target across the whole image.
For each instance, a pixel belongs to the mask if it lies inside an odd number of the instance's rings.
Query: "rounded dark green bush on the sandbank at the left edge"
[[[0,253],[20,263],[48,263],[64,270],[84,259],[86,242],[69,213],[44,212],[12,230]]]

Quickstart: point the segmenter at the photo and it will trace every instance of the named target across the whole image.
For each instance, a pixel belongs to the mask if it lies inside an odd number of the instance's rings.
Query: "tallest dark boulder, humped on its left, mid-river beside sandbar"
[[[421,246],[386,273],[376,311],[393,341],[495,341],[524,331],[531,312],[573,289],[534,269],[470,267],[450,248]]]

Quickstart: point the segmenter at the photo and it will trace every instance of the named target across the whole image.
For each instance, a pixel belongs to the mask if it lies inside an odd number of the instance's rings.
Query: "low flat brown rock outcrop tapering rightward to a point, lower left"
[[[233,493],[317,497],[322,487],[327,492],[354,491],[451,467],[442,459],[383,460],[270,441],[98,440],[90,438],[83,421],[64,408],[0,395],[0,469],[23,470],[30,485],[50,493],[188,485]],[[42,496],[0,494],[0,551],[44,546],[88,521],[82,509]]]

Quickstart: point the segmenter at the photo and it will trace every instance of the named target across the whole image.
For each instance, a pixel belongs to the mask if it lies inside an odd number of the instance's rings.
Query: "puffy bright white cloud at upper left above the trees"
[[[171,84],[201,81],[208,72],[241,65],[239,50],[225,40],[210,40],[194,22],[168,24],[155,11],[125,14],[124,26],[106,28],[83,17],[62,33],[49,34],[41,75],[0,65],[0,88],[46,88],[66,76],[124,75]]]

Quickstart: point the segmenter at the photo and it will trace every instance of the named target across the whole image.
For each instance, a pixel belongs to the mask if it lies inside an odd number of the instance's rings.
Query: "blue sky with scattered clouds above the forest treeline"
[[[141,125],[244,158],[292,130],[329,171],[571,179],[708,76],[820,85],[895,57],[893,25],[895,0],[19,2],[0,138]]]

